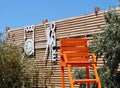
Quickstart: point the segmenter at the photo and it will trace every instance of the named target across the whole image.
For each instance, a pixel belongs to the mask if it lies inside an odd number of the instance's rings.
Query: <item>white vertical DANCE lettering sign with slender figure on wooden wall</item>
[[[51,61],[56,61],[56,35],[55,35],[55,23],[44,24],[47,44],[46,44],[46,51],[45,51],[45,58],[47,57],[47,53],[50,53]],[[47,58],[48,59],[48,58]]]

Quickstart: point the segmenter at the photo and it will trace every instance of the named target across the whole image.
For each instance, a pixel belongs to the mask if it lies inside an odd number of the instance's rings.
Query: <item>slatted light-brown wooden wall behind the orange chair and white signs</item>
[[[117,8],[116,10],[120,10]],[[41,21],[40,21],[41,22]],[[51,22],[47,22],[46,25],[49,28]],[[37,75],[37,83],[36,85],[33,85],[33,87],[41,87],[45,83],[45,85],[48,86],[55,86],[55,88],[61,88],[62,86],[62,79],[61,79],[61,68],[60,68],[60,39],[61,38],[86,38],[88,40],[88,45],[92,41],[93,34],[100,33],[102,30],[98,28],[98,26],[104,27],[105,21],[104,21],[104,11],[92,13],[92,14],[86,14],[83,16],[76,16],[72,18],[67,18],[63,20],[58,20],[52,22],[55,24],[55,41],[56,43],[54,46],[55,51],[55,57],[53,59],[56,59],[56,62],[52,64],[54,68],[51,67],[51,55],[47,57],[47,61],[44,60],[46,58],[45,51],[46,44],[47,44],[47,38],[46,38],[46,30],[45,30],[45,24],[35,24],[34,25],[34,40],[33,36],[31,36],[31,32],[26,32],[26,38],[30,39],[28,41],[28,55],[30,55],[29,59],[34,60],[34,63],[39,69],[38,75]],[[30,26],[29,26],[30,27]],[[28,27],[28,28],[29,28]],[[33,27],[33,26],[32,26]],[[24,48],[25,45],[25,27],[16,28],[16,29],[9,29],[6,31],[6,42],[8,44],[11,43],[11,41],[14,41],[14,44],[18,47]],[[47,29],[47,28],[46,28]],[[32,47],[34,46],[34,47]],[[31,48],[32,47],[32,48]],[[29,49],[30,48],[30,49]],[[26,49],[27,50],[27,49]],[[32,51],[33,50],[33,51]],[[29,52],[33,53],[29,53]],[[47,65],[45,66],[45,64]],[[103,65],[103,59],[99,58],[97,60],[97,68],[100,68]],[[44,70],[50,70],[50,75],[45,75],[41,71],[43,67],[47,68]],[[51,70],[52,69],[52,70]],[[45,71],[47,72],[47,71]],[[70,88],[69,78],[67,69],[65,69],[65,88]],[[49,72],[47,72],[49,73]],[[45,78],[46,76],[46,78]],[[32,79],[32,77],[30,77]],[[48,80],[48,79],[49,80]],[[45,81],[42,83],[42,81]],[[75,86],[77,88],[78,85]]]

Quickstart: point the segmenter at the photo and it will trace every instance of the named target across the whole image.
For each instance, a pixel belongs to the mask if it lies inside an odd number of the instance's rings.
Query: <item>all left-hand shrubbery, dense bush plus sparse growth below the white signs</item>
[[[0,88],[37,88],[38,83],[47,88],[47,82],[54,75],[54,65],[39,67],[35,57],[26,56],[12,39],[10,43],[7,45],[4,33],[0,33]]]

